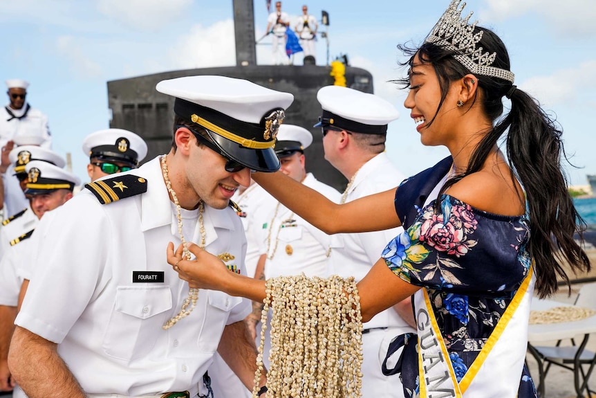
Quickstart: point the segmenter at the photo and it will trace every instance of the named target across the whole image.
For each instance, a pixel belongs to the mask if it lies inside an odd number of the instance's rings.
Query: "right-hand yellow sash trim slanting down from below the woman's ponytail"
[[[533,273],[534,261],[532,260],[530,272],[528,272],[528,275],[525,275],[525,279],[521,283],[519,289],[517,289],[515,296],[513,296],[513,300],[511,300],[509,306],[507,307],[507,309],[505,309],[505,313],[501,317],[501,320],[499,320],[499,322],[496,323],[494,330],[490,334],[490,337],[486,341],[484,347],[482,347],[481,352],[478,354],[478,356],[476,356],[476,359],[474,359],[474,363],[472,363],[472,365],[468,368],[467,372],[465,372],[465,376],[463,377],[463,379],[461,379],[459,383],[459,388],[461,392],[465,392],[467,390],[470,383],[472,383],[472,380],[474,380],[474,377],[476,377],[478,370],[480,370],[483,363],[486,361],[488,354],[490,354],[496,342],[499,341],[499,337],[501,337],[501,334],[503,334],[503,332],[505,331],[505,327],[507,327],[513,314],[515,314],[515,311],[521,304],[521,300],[523,299],[523,296],[525,295],[525,292],[528,290],[528,286],[530,285],[530,280],[532,280]]]

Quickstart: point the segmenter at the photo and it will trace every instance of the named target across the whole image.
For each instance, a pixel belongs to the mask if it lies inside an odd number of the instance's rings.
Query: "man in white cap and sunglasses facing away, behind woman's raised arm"
[[[398,118],[397,109],[379,96],[339,86],[319,89],[317,100],[323,111],[315,127],[322,129],[325,159],[349,181],[342,203],[398,186],[404,176],[384,152],[387,125]],[[361,280],[401,229],[332,235],[328,275]],[[400,378],[384,376],[379,364],[393,337],[414,332],[400,314],[413,323],[409,299],[364,323],[362,397],[403,394]]]

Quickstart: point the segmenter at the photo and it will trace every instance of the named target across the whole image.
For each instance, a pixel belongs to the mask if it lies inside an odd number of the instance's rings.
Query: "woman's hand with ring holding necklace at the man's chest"
[[[183,245],[180,244],[176,251],[173,243],[167,245],[167,262],[180,279],[193,288],[223,291],[225,278],[232,275],[223,261],[194,243],[188,244],[188,250],[196,257],[194,260],[183,259]]]

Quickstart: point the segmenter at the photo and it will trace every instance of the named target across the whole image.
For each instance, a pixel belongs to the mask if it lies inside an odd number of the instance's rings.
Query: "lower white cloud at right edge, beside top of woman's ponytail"
[[[596,89],[595,69],[596,60],[583,62],[577,68],[561,69],[550,76],[525,80],[520,88],[548,107],[557,104],[585,106],[584,93],[593,93]]]

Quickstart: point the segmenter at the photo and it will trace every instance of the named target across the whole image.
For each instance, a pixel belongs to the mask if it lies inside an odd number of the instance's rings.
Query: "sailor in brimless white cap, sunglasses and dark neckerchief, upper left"
[[[0,109],[0,147],[21,135],[37,135],[43,138],[41,146],[50,148],[52,137],[48,117],[26,102],[29,83],[21,79],[11,79],[6,80],[6,87],[10,102]]]

